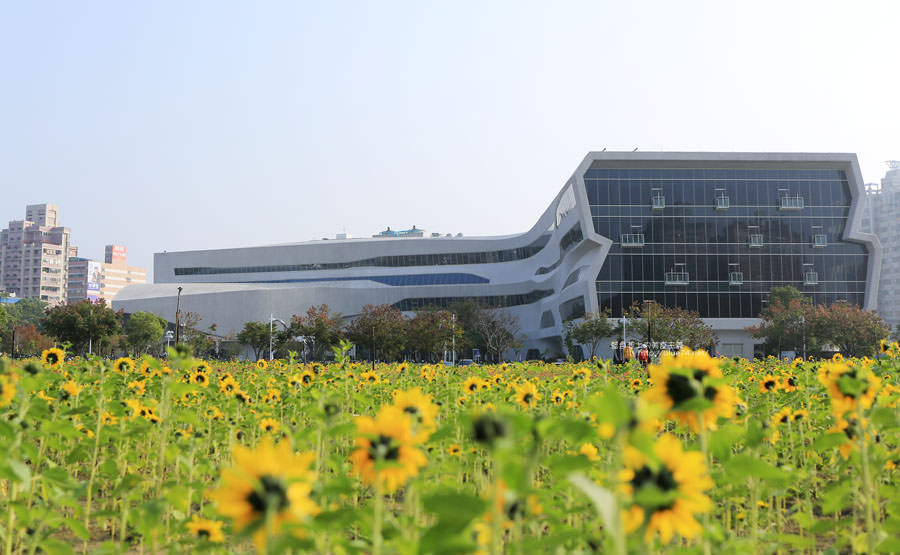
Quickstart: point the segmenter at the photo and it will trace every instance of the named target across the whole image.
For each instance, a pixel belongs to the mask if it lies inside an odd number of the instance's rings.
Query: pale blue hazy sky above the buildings
[[[528,229],[589,150],[900,158],[900,2],[0,1],[0,224],[83,256]]]

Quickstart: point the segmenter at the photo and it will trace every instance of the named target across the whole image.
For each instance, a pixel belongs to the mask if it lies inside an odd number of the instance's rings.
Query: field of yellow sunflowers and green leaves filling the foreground
[[[898,350],[0,359],[0,551],[900,552]]]

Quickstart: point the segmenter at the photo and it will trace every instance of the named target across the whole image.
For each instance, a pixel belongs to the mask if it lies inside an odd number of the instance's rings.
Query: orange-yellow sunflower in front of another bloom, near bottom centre
[[[363,482],[383,486],[384,493],[393,493],[428,462],[412,446],[410,419],[400,408],[384,405],[375,418],[357,417],[356,430],[353,467]]]

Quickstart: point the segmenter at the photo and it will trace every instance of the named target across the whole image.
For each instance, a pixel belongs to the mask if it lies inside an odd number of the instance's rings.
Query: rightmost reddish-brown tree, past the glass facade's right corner
[[[846,301],[816,306],[811,324],[816,337],[838,347],[847,357],[875,356],[879,341],[887,339],[891,331],[874,311]]]

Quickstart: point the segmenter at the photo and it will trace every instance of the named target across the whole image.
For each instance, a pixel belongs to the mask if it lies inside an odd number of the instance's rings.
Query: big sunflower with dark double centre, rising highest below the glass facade
[[[734,406],[740,399],[733,388],[722,383],[719,361],[706,351],[682,349],[677,356],[662,356],[659,364],[651,364],[648,370],[651,387],[644,391],[643,398],[662,406],[669,418],[689,425],[695,432],[700,430],[700,416],[704,426],[712,430],[719,418],[734,416]],[[702,410],[696,410],[696,405]]]

